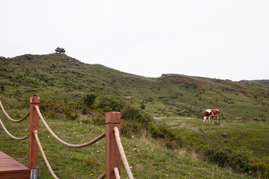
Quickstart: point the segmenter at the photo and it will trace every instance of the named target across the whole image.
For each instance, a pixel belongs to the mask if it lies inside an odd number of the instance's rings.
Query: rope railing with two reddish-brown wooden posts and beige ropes
[[[48,132],[55,138],[56,141],[61,143],[64,146],[70,147],[70,148],[82,148],[90,146],[97,141],[101,140],[106,136],[106,172],[100,176],[98,179],[121,179],[120,173],[121,173],[121,158],[124,164],[124,167],[126,169],[127,175],[129,179],[134,179],[133,174],[131,172],[131,169],[129,167],[128,161],[126,159],[126,155],[124,152],[124,148],[121,142],[120,138],[120,129],[121,129],[121,113],[120,112],[108,112],[106,113],[106,132],[101,134],[100,136],[96,137],[90,142],[84,143],[84,144],[69,144],[62,139],[60,139],[48,126],[46,121],[44,120],[40,110],[39,110],[39,97],[32,96],[30,97],[30,111],[21,119],[14,120],[11,119],[8,114],[5,112],[2,103],[0,101],[0,107],[5,114],[5,116],[12,122],[20,122],[24,120],[26,117],[30,116],[29,119],[29,133],[25,137],[17,138],[12,136],[5,126],[3,125],[1,119],[0,124],[3,128],[3,130],[7,133],[9,137],[15,140],[24,140],[29,137],[29,157],[28,157],[28,168],[32,170],[37,169],[37,161],[38,161],[38,148],[41,152],[41,155],[45,161],[45,164],[51,174],[51,176],[54,179],[59,179],[53,172],[46,155],[43,151],[42,145],[38,138],[38,131],[39,131],[39,118],[41,119],[42,123],[44,124],[45,128],[48,130]],[[108,114],[108,115],[107,115]],[[115,135],[115,137],[114,137]],[[119,149],[119,150],[118,150]]]

